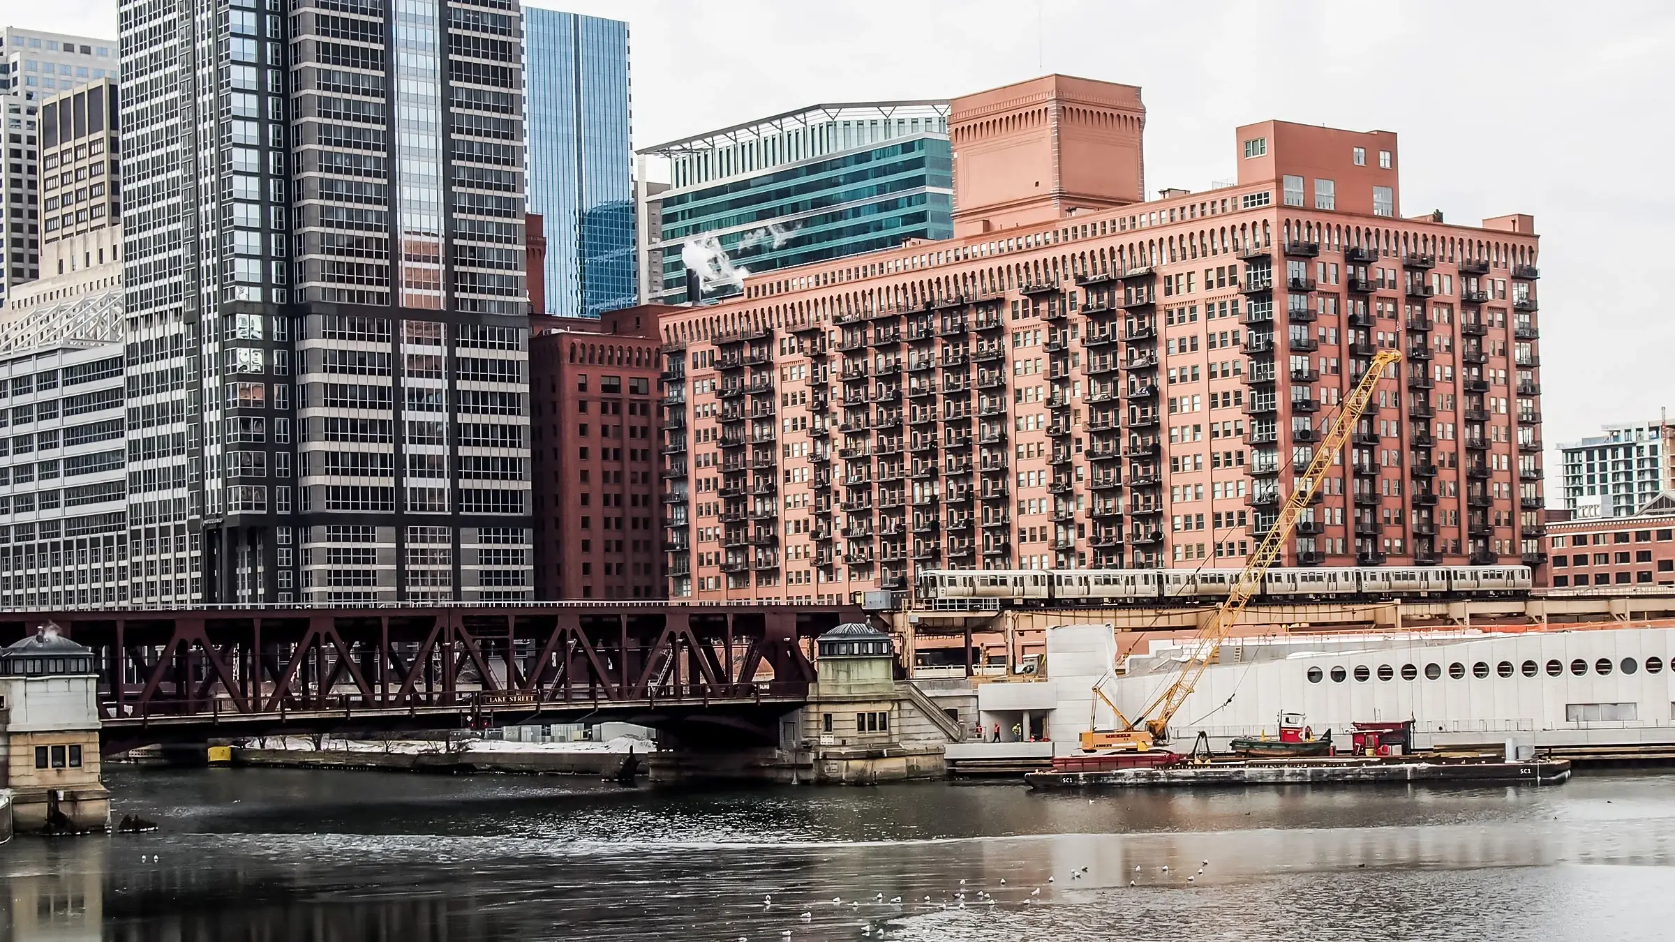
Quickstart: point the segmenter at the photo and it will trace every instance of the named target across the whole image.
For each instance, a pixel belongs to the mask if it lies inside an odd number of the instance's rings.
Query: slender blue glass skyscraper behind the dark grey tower
[[[546,226],[546,313],[638,302],[628,23],[524,8],[529,211]]]

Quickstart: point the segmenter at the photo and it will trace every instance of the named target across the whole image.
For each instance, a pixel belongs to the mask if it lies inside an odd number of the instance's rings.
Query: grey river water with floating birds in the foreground
[[[1675,774],[1095,796],[127,768],[107,784],[114,816],[162,830],[0,846],[10,939],[1675,939]]]

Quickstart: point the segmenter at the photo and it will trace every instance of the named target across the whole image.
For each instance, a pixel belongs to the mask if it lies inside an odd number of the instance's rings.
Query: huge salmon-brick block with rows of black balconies
[[[1285,122],[1146,193],[1137,87],[955,99],[955,236],[668,310],[670,595],[1241,567],[1380,347],[1286,565],[1543,560],[1529,216],[1399,215],[1397,137]]]

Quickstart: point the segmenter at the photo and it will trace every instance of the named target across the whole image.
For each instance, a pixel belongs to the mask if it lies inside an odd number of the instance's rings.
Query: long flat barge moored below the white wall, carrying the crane
[[[1037,791],[1246,784],[1563,784],[1569,759],[1343,756],[1308,759],[1162,761],[1146,766],[1055,768],[1023,776]]]

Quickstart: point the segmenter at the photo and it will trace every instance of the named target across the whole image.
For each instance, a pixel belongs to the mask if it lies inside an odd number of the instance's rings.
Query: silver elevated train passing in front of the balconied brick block
[[[995,598],[1002,605],[1199,605],[1233,592],[1241,570],[926,570],[918,598]],[[1258,600],[1362,600],[1528,595],[1529,567],[1271,568]]]

